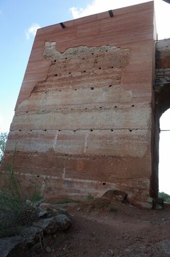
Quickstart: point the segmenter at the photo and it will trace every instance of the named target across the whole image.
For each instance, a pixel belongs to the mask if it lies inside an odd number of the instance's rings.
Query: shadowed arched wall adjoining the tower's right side
[[[170,40],[161,40],[156,44],[156,74],[155,74],[155,128],[153,140],[153,183],[155,192],[158,192],[158,165],[159,165],[159,119],[170,108]],[[157,195],[155,195],[157,196]]]

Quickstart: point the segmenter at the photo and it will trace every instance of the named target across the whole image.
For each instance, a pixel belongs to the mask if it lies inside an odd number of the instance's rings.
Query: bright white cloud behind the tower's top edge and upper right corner
[[[151,1],[151,0],[150,0]],[[92,0],[85,8],[71,7],[73,19],[83,16],[114,10],[130,5],[137,5],[149,2],[149,0]],[[158,38],[164,39],[170,37],[169,24],[170,24],[170,5],[162,0],[155,0],[156,24]]]

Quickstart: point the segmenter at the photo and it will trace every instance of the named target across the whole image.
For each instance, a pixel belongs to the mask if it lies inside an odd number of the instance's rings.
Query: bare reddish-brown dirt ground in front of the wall
[[[70,213],[71,229],[45,237],[43,250],[33,249],[29,256],[170,256],[168,204],[162,210],[141,210],[101,198],[62,208]]]

